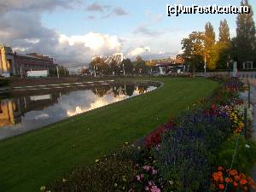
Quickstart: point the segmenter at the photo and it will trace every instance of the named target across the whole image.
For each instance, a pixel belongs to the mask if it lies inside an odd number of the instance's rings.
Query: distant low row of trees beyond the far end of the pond
[[[102,58],[96,57],[90,62],[89,68],[91,72],[101,75],[123,75],[124,70],[125,74],[147,74],[150,69],[141,56],[137,56],[136,61],[125,59],[121,63],[117,63],[113,60],[109,64]]]

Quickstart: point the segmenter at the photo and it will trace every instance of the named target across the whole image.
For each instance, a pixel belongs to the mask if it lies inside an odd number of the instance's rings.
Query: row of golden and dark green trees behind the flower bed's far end
[[[241,5],[249,6],[251,13],[237,15],[235,38],[230,38],[227,20],[220,21],[218,40],[210,22],[207,22],[205,32],[192,32],[189,38],[183,38],[181,56],[194,70],[202,69],[205,62],[208,69],[214,70],[231,67],[231,60],[237,61],[240,68],[244,61],[256,61],[253,9],[247,0],[243,0]]]

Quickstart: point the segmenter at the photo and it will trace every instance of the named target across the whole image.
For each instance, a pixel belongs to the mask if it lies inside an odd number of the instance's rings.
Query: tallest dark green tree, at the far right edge
[[[253,61],[256,44],[252,6],[247,0],[242,0],[241,6],[248,6],[251,11],[249,14],[237,15],[236,19],[235,55],[240,66],[243,61]]]

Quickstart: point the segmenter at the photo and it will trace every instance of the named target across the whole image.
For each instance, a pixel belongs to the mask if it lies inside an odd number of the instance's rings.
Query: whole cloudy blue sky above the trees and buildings
[[[256,11],[255,0],[249,0]],[[226,19],[236,35],[236,15],[168,17],[166,3],[240,5],[240,0],[0,0],[0,43],[18,52],[39,52],[75,67],[92,55],[123,52],[134,59],[177,55],[190,32]],[[254,15],[254,20],[256,17]]]

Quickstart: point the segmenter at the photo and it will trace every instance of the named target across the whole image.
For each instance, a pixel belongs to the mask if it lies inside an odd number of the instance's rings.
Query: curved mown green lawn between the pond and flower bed
[[[206,79],[151,79],[165,85],[0,142],[0,191],[38,191],[74,166],[93,163],[122,143],[143,137],[218,87]]]

